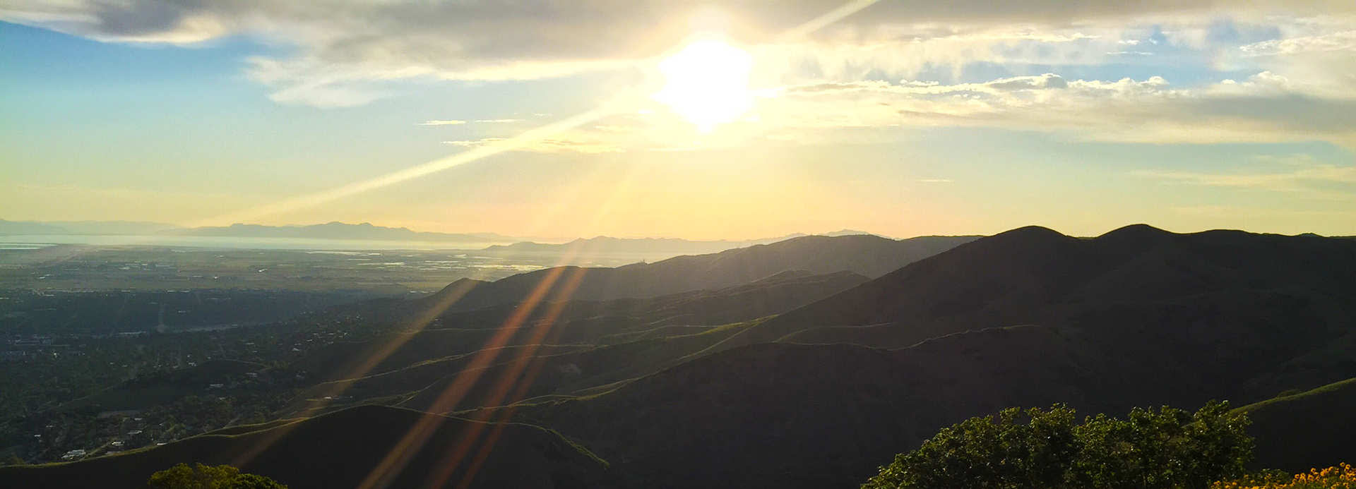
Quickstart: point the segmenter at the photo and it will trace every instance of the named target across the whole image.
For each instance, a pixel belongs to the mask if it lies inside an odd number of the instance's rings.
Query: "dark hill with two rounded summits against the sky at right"
[[[1329,326],[1345,331],[1351,325],[1356,310],[1345,298],[1356,294],[1352,271],[1356,247],[1347,240],[1230,230],[1174,234],[1144,225],[1074,238],[1021,228],[781,314],[731,345],[803,335],[814,341],[898,348],[952,332],[1014,324],[1248,324],[1258,322],[1250,314],[1260,309],[1285,314],[1279,310],[1287,307],[1285,301],[1292,301],[1288,306],[1295,313],[1309,316],[1264,316],[1292,326],[1269,333],[1313,340],[1332,333]],[[1182,316],[1192,310],[1199,317]],[[834,326],[871,328],[807,332]]]

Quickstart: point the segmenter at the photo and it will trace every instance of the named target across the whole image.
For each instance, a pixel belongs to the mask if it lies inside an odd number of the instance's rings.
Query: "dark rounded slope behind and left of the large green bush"
[[[1109,386],[1050,329],[960,336],[903,351],[755,344],[518,413],[580,440],[628,486],[852,488],[968,416],[1121,408],[1097,400]]]

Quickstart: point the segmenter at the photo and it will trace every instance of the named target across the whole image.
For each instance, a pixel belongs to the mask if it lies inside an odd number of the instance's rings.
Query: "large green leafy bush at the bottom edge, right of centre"
[[[972,417],[899,454],[864,489],[1199,489],[1239,477],[1252,459],[1248,419],[1227,402],[1195,414],[1134,409],[1077,423],[1064,405]]]

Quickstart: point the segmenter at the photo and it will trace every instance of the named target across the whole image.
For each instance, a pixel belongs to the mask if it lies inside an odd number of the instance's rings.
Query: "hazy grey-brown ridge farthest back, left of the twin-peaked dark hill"
[[[471,310],[515,303],[534,291],[545,297],[614,299],[713,290],[744,284],[789,270],[812,274],[849,271],[880,276],[909,263],[975,240],[972,236],[926,236],[890,240],[879,236],[805,236],[720,253],[677,256],[617,268],[555,267],[495,282],[462,279],[423,299]],[[568,290],[568,293],[563,293]]]

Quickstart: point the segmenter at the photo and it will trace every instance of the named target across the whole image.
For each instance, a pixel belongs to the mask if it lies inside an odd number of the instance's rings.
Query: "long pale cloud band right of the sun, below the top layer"
[[[805,131],[980,126],[1121,142],[1329,141],[1356,148],[1356,99],[1296,92],[1269,72],[1196,88],[1173,88],[1158,76],[1105,81],[1052,73],[971,84],[815,84],[773,92],[757,110],[761,121]]]

